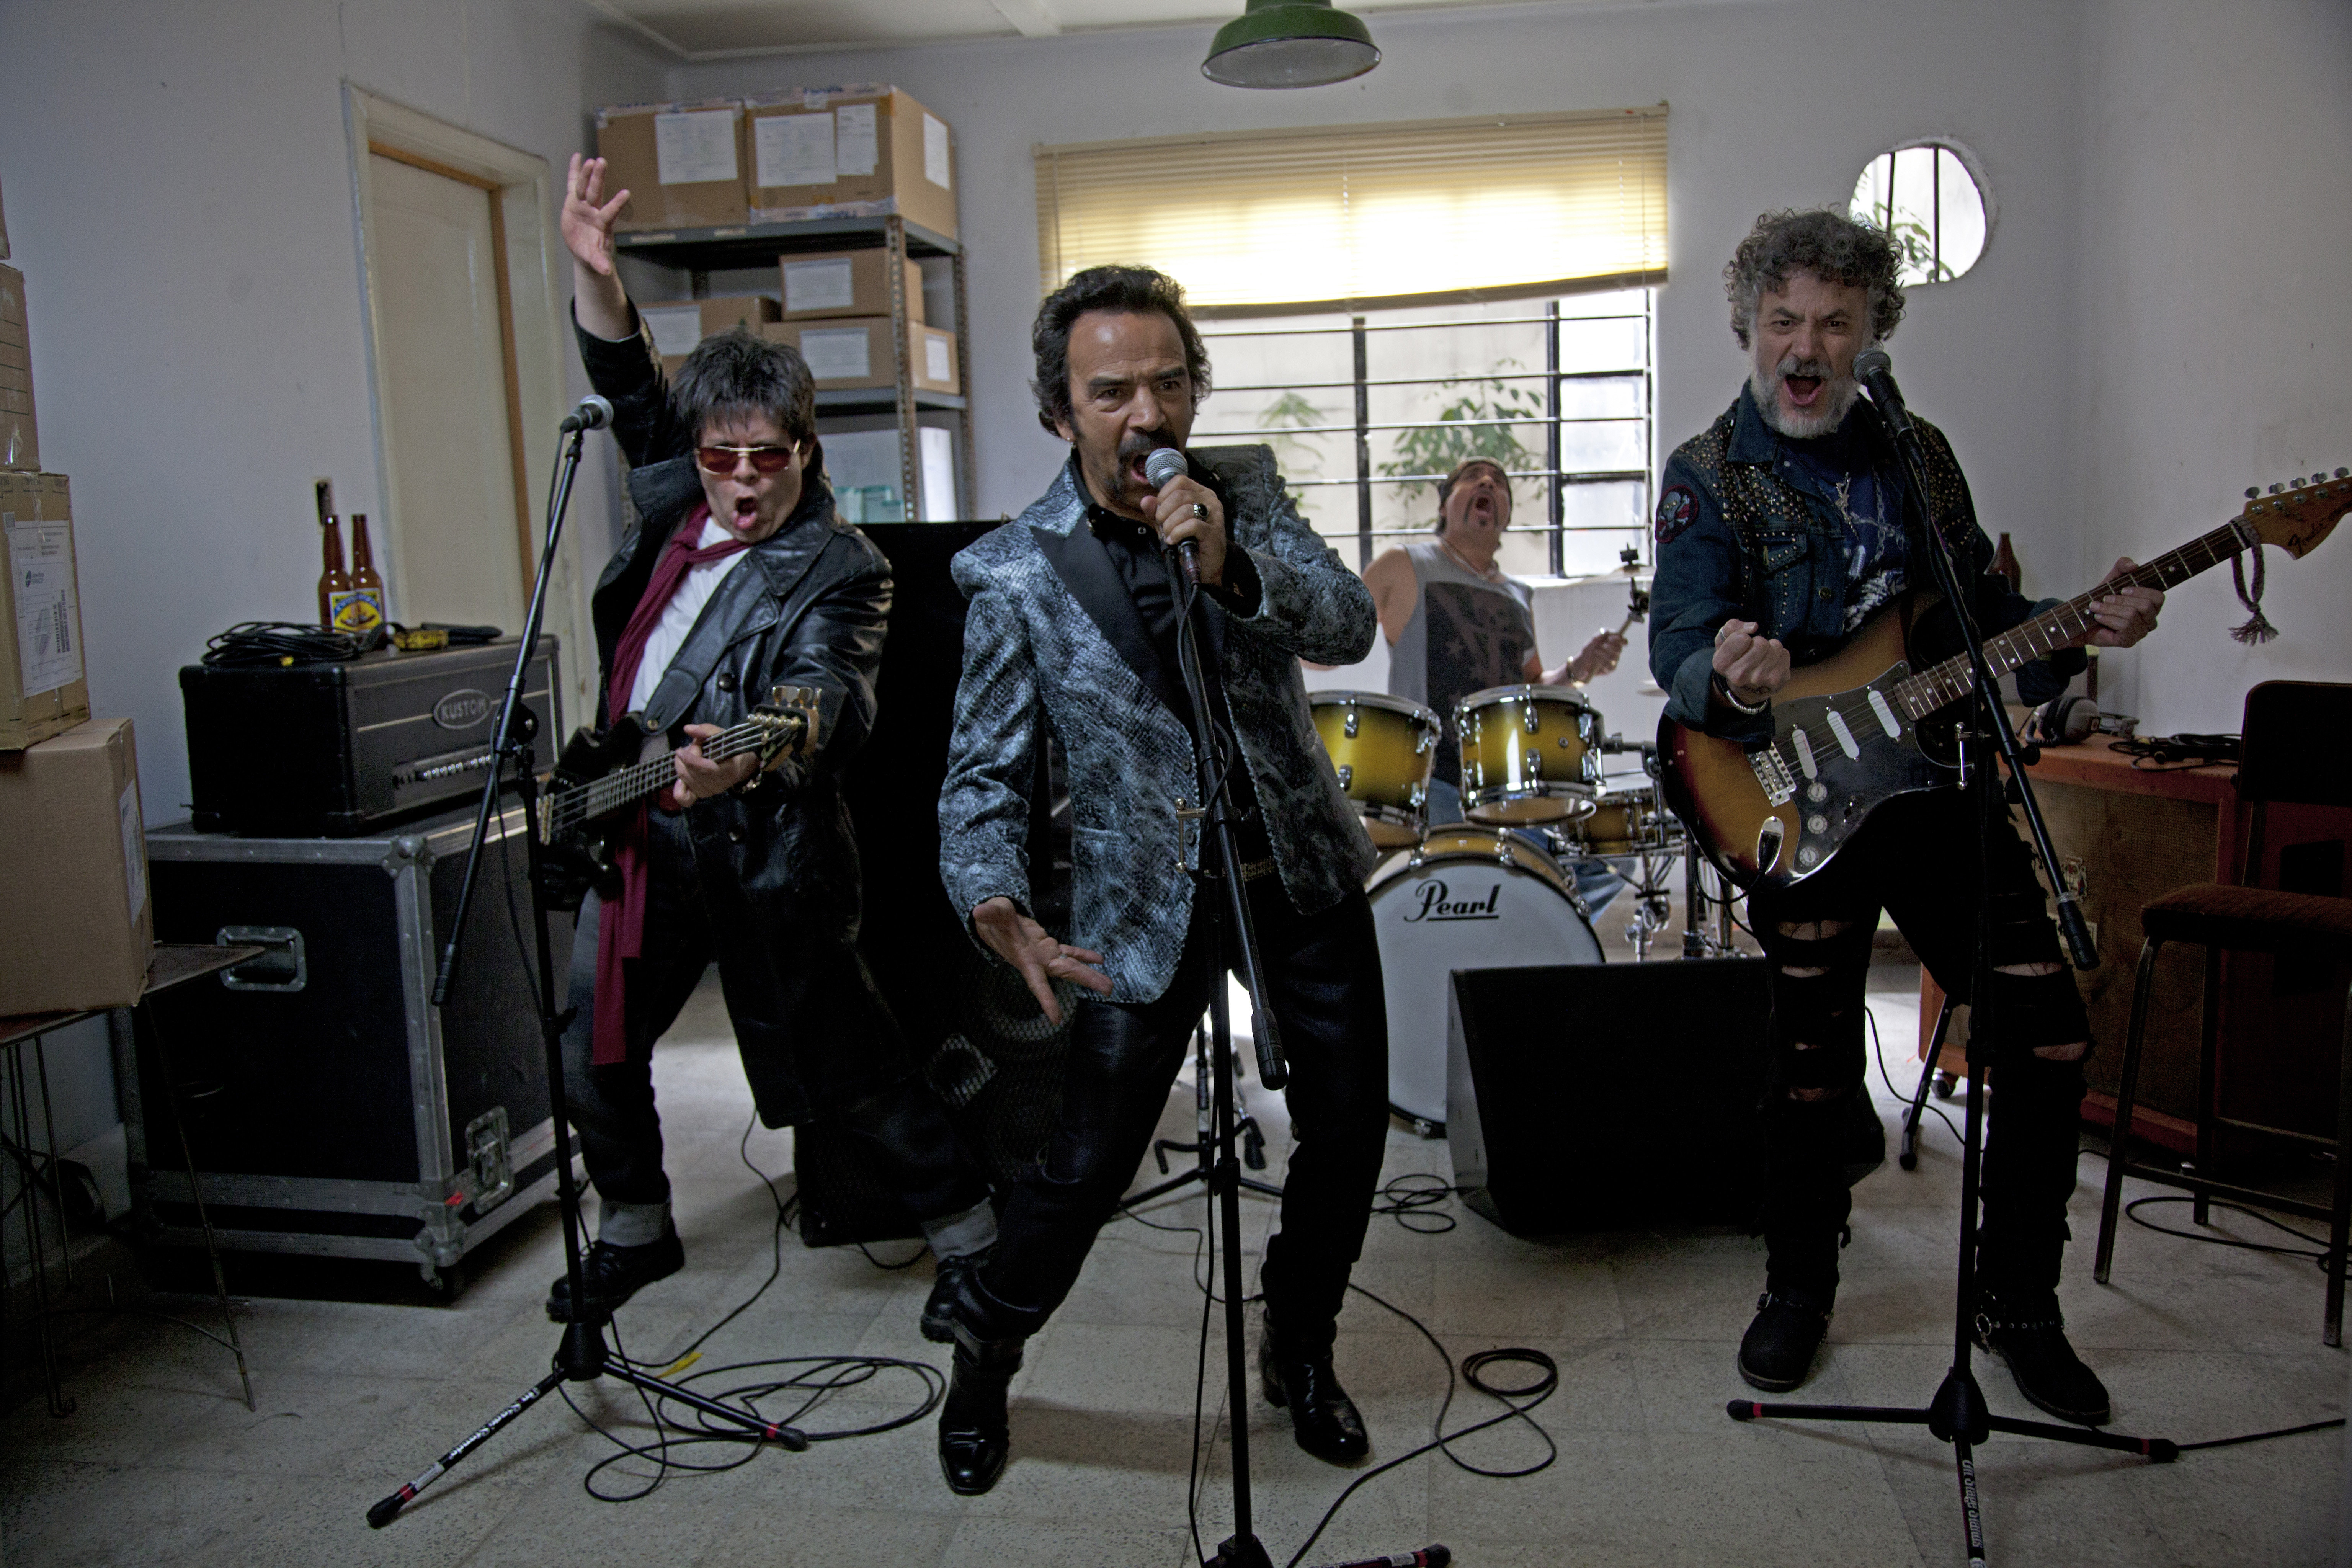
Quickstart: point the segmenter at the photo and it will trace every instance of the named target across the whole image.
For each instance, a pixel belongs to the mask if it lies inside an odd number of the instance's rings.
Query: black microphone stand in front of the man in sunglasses
[[[539,1039],[546,1051],[548,1072],[548,1114],[555,1126],[555,1192],[562,1206],[564,1220],[564,1276],[572,1284],[572,1309],[574,1319],[564,1324],[562,1338],[555,1347],[555,1363],[546,1378],[522,1389],[510,1406],[482,1422],[473,1434],[456,1443],[449,1453],[433,1460],[433,1465],[419,1474],[414,1481],[402,1486],[390,1497],[383,1497],[372,1509],[367,1509],[367,1523],[376,1530],[388,1526],[400,1509],[409,1505],[416,1493],[437,1481],[452,1465],[463,1460],[468,1453],[487,1443],[492,1436],[513,1425],[524,1410],[546,1399],[562,1382],[593,1382],[597,1378],[614,1378],[635,1389],[642,1389],[652,1399],[668,1399],[682,1406],[691,1406],[703,1418],[727,1422],[743,1436],[767,1439],[793,1448],[795,1453],[809,1446],[809,1439],[795,1427],[781,1422],[769,1422],[753,1410],[741,1410],[736,1406],[720,1403],[696,1394],[694,1389],[682,1389],[673,1382],[663,1382],[652,1373],[642,1373],[626,1359],[612,1354],[604,1347],[604,1326],[612,1314],[588,1312],[588,1291],[581,1279],[581,1192],[579,1180],[572,1175],[572,1133],[569,1133],[569,1107],[564,1105],[564,1025],[572,1013],[560,1013],[555,1009],[555,966],[548,950],[548,893],[541,879],[541,842],[539,842],[539,764],[532,752],[532,731],[536,722],[529,708],[522,705],[522,677],[529,670],[532,649],[539,642],[539,625],[548,607],[548,576],[555,569],[555,545],[564,531],[564,512],[572,503],[572,477],[579,473],[581,444],[588,440],[586,428],[576,418],[564,421],[572,442],[557,458],[555,487],[548,496],[548,536],[539,550],[539,576],[532,583],[532,607],[522,618],[522,642],[515,649],[515,672],[506,682],[506,701],[499,708],[499,724],[489,731],[499,736],[499,764],[489,769],[489,778],[482,780],[482,806],[475,811],[473,823],[473,849],[466,853],[466,877],[456,893],[456,914],[449,922],[449,940],[440,954],[440,973],[433,978],[433,1006],[449,1004],[449,987],[456,978],[459,938],[466,931],[466,912],[473,907],[475,877],[482,867],[482,844],[489,839],[489,823],[499,811],[499,785],[506,773],[506,759],[513,759],[515,783],[522,797],[522,823],[524,823],[524,846],[532,884],[532,938],[534,938],[534,961],[539,971],[539,994],[534,997],[539,1006]]]

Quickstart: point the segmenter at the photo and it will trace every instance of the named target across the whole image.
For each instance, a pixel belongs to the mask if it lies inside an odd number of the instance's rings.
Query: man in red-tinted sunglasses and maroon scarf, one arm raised
[[[637,712],[647,752],[682,750],[623,851],[642,882],[588,893],[574,940],[564,1091],[600,1197],[586,1284],[612,1309],[684,1265],[652,1051],[717,961],[760,1121],[823,1117],[868,1145],[938,1255],[924,1333],[946,1340],[946,1293],[995,1239],[995,1213],[858,957],[842,799],[875,715],[889,564],[833,515],[800,355],[731,331],[663,378],[612,266],[628,193],[602,200],[602,174],[574,158],[562,209],[581,360],[614,404],[637,512],[590,597],[597,724]],[[814,736],[764,769],[701,755],[779,684],[816,691]],[[548,1312],[572,1314],[564,1279]]]

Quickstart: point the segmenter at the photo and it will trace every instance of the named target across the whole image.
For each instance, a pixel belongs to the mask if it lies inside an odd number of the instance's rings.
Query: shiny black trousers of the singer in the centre
[[[1364,1248],[1388,1145],[1381,950],[1362,893],[1322,914],[1298,914],[1277,877],[1251,882],[1249,893],[1268,1001],[1291,1065],[1284,1095],[1296,1138],[1282,1185],[1282,1229],[1265,1246],[1261,1279],[1284,1335],[1327,1347],[1348,1269]],[[1232,961],[1232,945],[1216,943],[1223,961],[1214,971],[1209,964],[1211,940],[1225,924],[1221,889],[1200,889],[1167,992],[1143,1004],[1094,997],[1077,1004],[1061,1119],[1044,1161],[1011,1190],[997,1218],[997,1244],[964,1298],[967,1324],[978,1338],[1037,1333],[1077,1281],[1094,1234],[1150,1147],[1209,987],[1223,983]]]

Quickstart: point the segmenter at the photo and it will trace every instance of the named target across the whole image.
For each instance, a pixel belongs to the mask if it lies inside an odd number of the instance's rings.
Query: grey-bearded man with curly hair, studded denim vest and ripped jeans
[[[1903,315],[1889,237],[1839,212],[1757,219],[1724,270],[1731,331],[1750,353],[1738,402],[1684,442],[1658,484],[1649,661],[1668,717],[1724,738],[1771,738],[1792,665],[1830,658],[1907,590],[1931,583],[1919,508],[1884,423],[1856,397],[1853,357]],[[1926,515],[1973,583],[1978,630],[2037,611],[1992,576],[1969,484],[1945,437],[1926,442]],[[2119,562],[2117,569],[2129,567]],[[2164,595],[2093,602],[2084,642],[2131,646]],[[1938,649],[1938,654],[1957,651]],[[2056,696],[2077,649],[2027,663],[2018,691]],[[1962,790],[1896,795],[1844,851],[1792,886],[1755,884],[1750,924],[1771,961],[1773,1079],[1764,1107],[1766,1288],[1740,1340],[1740,1378],[1785,1392],[1811,1375],[1837,1298],[1849,1187],[1886,1157],[1863,1086],[1863,985],[1879,910],[1955,999],[1969,999],[1978,907],[1992,903],[1992,973],[1973,1009],[1992,1041],[1994,1114],[1978,1239],[1978,1338],[2018,1389],[2063,1420],[2100,1425],[2107,1389],[2058,1314],[2074,1192],[2089,1020],[2018,837],[1978,867],[1978,806]]]

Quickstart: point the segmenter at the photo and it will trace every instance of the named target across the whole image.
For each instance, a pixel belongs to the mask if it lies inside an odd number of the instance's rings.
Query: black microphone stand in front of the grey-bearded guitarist
[[[1976,630],[1976,616],[1969,609],[1966,583],[1962,581],[1959,562],[1952,557],[1952,545],[1936,529],[1936,520],[1929,512],[1926,498],[1926,451],[1919,440],[1919,430],[1912,423],[1907,409],[1903,409],[1900,395],[1893,390],[1891,376],[1870,376],[1872,407],[1886,421],[1896,440],[1896,451],[1903,461],[1903,475],[1910,482],[1910,494],[1905,496],[1905,510],[1912,515],[1912,538],[1926,541],[1926,557],[1936,571],[1936,588],[1943,592],[1945,602],[1952,607],[1959,621],[1962,646],[1969,658],[1969,684],[1971,684],[1971,715],[1959,722],[1959,788],[1976,790],[1978,802],[1978,832],[1976,832],[1976,856],[1978,856],[1978,905],[1976,905],[1976,957],[1969,966],[1969,997],[1978,1001],[1976,1020],[1969,1027],[1969,1112],[1966,1133],[1962,1135],[1962,1161],[1959,1161],[1959,1281],[1952,1302],[1952,1366],[1943,1375],[1943,1385],[1926,1408],[1905,1406],[1816,1406],[1816,1403],[1766,1403],[1755,1399],[1733,1399],[1726,1406],[1731,1420],[1830,1420],[1830,1422],[1875,1422],[1896,1427],[1926,1427],[1936,1439],[1952,1443],[1952,1460],[1959,1469],[1959,1514],[1962,1530],[1969,1547],[1969,1568],[1985,1568],[1985,1519],[1976,1490],[1976,1446],[1983,1443],[1994,1432],[2009,1432],[2013,1436],[2039,1436],[2053,1443],[2077,1443],[2082,1448],[2107,1448],[2112,1453],[2136,1453],[2157,1465],[2171,1465],[2180,1458],[2180,1446],[2161,1436],[2122,1436],[2112,1432],[2098,1432],[2096,1427],[2072,1427],[2044,1420],[2013,1420],[2009,1415],[1992,1415],[1985,1408],[1985,1394],[1976,1382],[1976,1371],[1971,1366],[1973,1352],[1973,1319],[1976,1319],[1976,1232],[1978,1232],[1978,1197],[1983,1190],[1983,1133],[1985,1133],[1985,1065],[1990,1058],[1990,1044],[1999,1037],[1999,1027],[1990,1009],[1983,1006],[1987,999],[1985,980],[1992,976],[1992,900],[1983,896],[1985,872],[1992,860],[1992,835],[2004,827],[2004,795],[1999,778],[1987,773],[1992,741],[2009,764],[2009,783],[2016,790],[2020,804],[2025,806],[2025,820],[2032,830],[2034,853],[2042,858],[2042,867],[2049,877],[2049,886],[2058,889],[2058,919],[2067,938],[2067,952],[2077,969],[2098,966],[2098,950],[2091,945],[2091,933],[2082,922],[2082,910],[2074,905],[2072,896],[2065,893],[2065,879],[2058,875],[2058,856],[2051,849],[2049,830],[2042,823],[2042,806],[2034,802],[2032,780],[2025,776],[2025,757],[2018,745],[2016,731],[2009,726],[2009,715],[2002,710],[1999,686],[1992,679],[1992,670],[1985,663],[1985,649]]]

